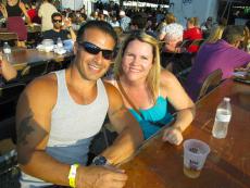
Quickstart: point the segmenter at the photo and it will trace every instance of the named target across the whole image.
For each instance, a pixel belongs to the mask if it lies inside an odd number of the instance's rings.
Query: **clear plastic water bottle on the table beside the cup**
[[[216,110],[215,121],[212,130],[213,137],[215,138],[226,137],[230,117],[232,117],[230,99],[224,98],[223,101],[218,104]]]

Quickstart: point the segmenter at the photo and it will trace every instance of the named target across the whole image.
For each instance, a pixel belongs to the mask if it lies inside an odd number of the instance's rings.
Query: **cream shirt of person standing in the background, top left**
[[[43,0],[38,10],[38,16],[41,17],[41,32],[46,32],[53,28],[51,15],[58,12],[57,8],[51,3],[51,0]]]

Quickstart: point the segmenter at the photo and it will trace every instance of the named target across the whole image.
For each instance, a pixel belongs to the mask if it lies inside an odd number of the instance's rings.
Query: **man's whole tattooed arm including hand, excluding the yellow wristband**
[[[33,82],[21,95],[16,112],[17,159],[22,171],[45,181],[68,186],[70,165],[46,153],[57,84],[51,75]],[[121,188],[124,171],[105,166],[77,168],[76,187]]]

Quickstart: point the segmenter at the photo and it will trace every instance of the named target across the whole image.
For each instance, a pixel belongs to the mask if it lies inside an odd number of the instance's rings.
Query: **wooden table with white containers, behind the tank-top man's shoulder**
[[[9,61],[16,70],[23,70],[33,63],[42,63],[48,61],[63,62],[73,58],[73,53],[57,54],[54,52],[38,51],[36,49],[13,48],[9,55]]]

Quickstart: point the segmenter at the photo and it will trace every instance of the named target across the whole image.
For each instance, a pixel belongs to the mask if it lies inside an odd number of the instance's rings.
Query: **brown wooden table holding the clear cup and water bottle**
[[[232,99],[233,116],[225,139],[212,137],[217,104]],[[200,177],[183,173],[183,146],[162,142],[162,134],[148,140],[121,167],[128,174],[126,188],[250,188],[250,86],[225,80],[197,103],[197,115],[185,139],[205,141],[211,148]]]

